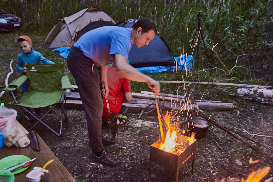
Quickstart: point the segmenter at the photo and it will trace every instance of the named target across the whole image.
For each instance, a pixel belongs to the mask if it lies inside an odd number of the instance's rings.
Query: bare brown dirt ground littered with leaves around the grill
[[[14,49],[15,56],[18,49],[2,48],[2,52]],[[1,86],[9,72],[9,58],[4,54],[1,59],[0,79]],[[4,66],[5,65],[5,66]],[[15,68],[16,60],[12,63]],[[67,71],[67,70],[66,70]],[[20,73],[14,69],[9,81],[18,78]],[[213,96],[214,100],[221,99],[221,95]],[[6,107],[12,107],[12,98],[5,93],[1,100],[5,100]],[[272,105],[233,98],[231,101],[235,108],[231,111],[206,111],[211,118],[228,128],[232,128],[257,142],[273,149],[273,109]],[[21,112],[19,108],[15,108]],[[62,137],[54,135],[42,124],[35,126],[35,131],[42,137],[52,152],[58,157],[76,182],[145,182],[148,181],[150,145],[159,139],[160,129],[157,115],[149,114],[138,118],[139,113],[127,113],[128,121],[119,126],[116,143],[105,149],[119,158],[121,164],[117,167],[106,167],[91,160],[91,149],[88,147],[88,134],[86,119],[83,110],[69,109],[68,121],[63,123]],[[59,118],[49,115],[46,123],[59,130]],[[19,119],[21,121],[21,119]],[[29,129],[31,123],[25,122],[24,127]],[[250,136],[257,134],[256,136]],[[103,132],[107,133],[107,127],[103,126]],[[261,136],[259,136],[261,135]],[[222,152],[214,139],[223,149]],[[252,142],[248,144],[264,151],[271,158],[273,153],[263,150]],[[249,164],[249,158],[260,160],[253,165]],[[223,130],[212,125],[205,138],[197,140],[194,173],[191,174],[192,161],[186,163],[180,169],[180,182],[207,182],[215,179],[238,177],[246,179],[248,174],[259,167],[270,166],[269,174],[261,181],[273,176],[273,161],[265,159],[252,149],[227,134]],[[174,181],[174,171],[156,163],[152,163],[151,182]]]

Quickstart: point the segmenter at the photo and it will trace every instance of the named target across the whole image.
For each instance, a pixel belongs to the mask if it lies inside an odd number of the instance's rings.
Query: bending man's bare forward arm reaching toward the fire
[[[160,92],[160,84],[154,79],[136,70],[133,66],[129,65],[127,59],[121,54],[115,54],[116,71],[124,78],[136,82],[145,82],[148,87],[153,91],[154,95]]]

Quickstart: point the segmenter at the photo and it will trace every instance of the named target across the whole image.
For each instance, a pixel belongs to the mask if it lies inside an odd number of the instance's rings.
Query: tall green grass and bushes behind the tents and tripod
[[[23,32],[37,32],[46,36],[59,17],[69,16],[82,8],[102,8],[116,22],[127,19],[152,19],[172,50],[172,56],[180,53],[192,54],[190,42],[198,26],[198,12],[202,12],[201,30],[207,54],[199,36],[199,49],[194,49],[196,67],[231,69],[237,56],[238,66],[230,73],[207,72],[198,74],[198,79],[214,80],[214,76],[225,74],[225,78],[236,76],[230,82],[265,78],[273,72],[272,54],[272,0],[227,0],[188,1],[170,0],[0,0],[1,8],[22,19]],[[112,3],[111,3],[112,2]],[[251,7],[249,7],[251,5]],[[197,38],[197,36],[196,36]],[[196,39],[195,39],[196,40]],[[195,41],[194,41],[195,42]],[[218,44],[217,44],[218,43]],[[217,46],[211,51],[213,45]],[[193,46],[192,46],[193,47]],[[156,56],[156,55],[155,55]],[[160,59],[160,58],[159,58]],[[223,63],[221,63],[220,62]],[[251,71],[250,71],[251,70]],[[254,71],[256,70],[256,71]],[[258,70],[258,71],[257,71]],[[200,77],[200,78],[199,78]],[[271,81],[270,77],[264,79]]]

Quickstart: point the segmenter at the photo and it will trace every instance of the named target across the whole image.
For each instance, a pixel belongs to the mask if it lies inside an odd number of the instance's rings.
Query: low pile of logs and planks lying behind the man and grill
[[[72,91],[69,90],[66,92],[67,108],[83,109],[78,87],[72,85],[72,88]],[[128,113],[156,113],[156,106],[154,104],[155,97],[152,92],[141,91],[141,93],[132,93],[132,95],[133,99],[130,103],[123,103],[128,107]],[[161,111],[180,110],[185,101],[184,98],[185,96],[160,93],[158,104]],[[221,103],[220,101],[191,100],[190,103],[187,104],[187,110],[191,110],[191,108],[201,110],[232,110],[234,105],[232,103]]]

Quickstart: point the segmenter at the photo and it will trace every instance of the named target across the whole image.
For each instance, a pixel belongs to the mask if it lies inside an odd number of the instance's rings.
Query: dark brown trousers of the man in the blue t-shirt
[[[70,49],[66,62],[83,102],[91,149],[93,152],[101,152],[104,148],[101,138],[103,99],[100,69],[76,47]]]

